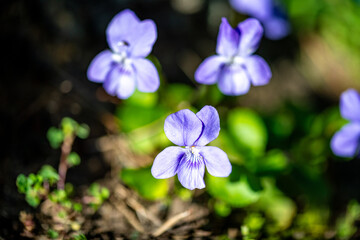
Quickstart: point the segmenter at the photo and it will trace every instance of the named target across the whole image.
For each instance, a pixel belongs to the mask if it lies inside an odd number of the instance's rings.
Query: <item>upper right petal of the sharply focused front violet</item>
[[[215,140],[220,132],[220,118],[216,109],[212,106],[204,106],[196,116],[203,122],[203,130],[196,146],[205,146]]]

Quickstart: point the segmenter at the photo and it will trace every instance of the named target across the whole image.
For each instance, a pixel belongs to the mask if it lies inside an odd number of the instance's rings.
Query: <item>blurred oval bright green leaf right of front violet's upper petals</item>
[[[250,109],[234,109],[228,116],[230,133],[242,148],[262,153],[267,143],[267,131],[262,119]]]

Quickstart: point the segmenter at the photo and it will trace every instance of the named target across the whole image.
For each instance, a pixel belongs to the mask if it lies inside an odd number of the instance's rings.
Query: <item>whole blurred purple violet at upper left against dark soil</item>
[[[106,29],[110,50],[100,52],[90,63],[87,76],[90,81],[104,83],[113,96],[126,99],[135,88],[141,92],[155,92],[159,75],[154,64],[145,59],[157,38],[152,20],[140,21],[126,9],[118,13]]]

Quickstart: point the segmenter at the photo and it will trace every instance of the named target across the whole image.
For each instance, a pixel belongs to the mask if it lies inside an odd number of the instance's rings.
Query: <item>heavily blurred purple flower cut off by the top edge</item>
[[[237,12],[257,18],[269,39],[278,40],[290,32],[285,11],[273,0],[230,0],[230,4]]]

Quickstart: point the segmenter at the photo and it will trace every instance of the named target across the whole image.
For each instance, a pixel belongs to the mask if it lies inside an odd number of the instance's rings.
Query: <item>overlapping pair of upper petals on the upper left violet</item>
[[[111,20],[106,36],[113,51],[127,49],[132,57],[146,57],[156,41],[157,31],[152,20],[140,21],[133,11],[126,9]]]

